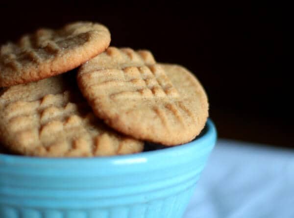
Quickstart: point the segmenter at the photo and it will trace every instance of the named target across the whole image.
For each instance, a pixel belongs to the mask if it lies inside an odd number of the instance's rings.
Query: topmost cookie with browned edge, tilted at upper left
[[[17,43],[0,48],[0,87],[22,84],[64,73],[104,51],[110,43],[108,29],[90,22],[41,28]]]

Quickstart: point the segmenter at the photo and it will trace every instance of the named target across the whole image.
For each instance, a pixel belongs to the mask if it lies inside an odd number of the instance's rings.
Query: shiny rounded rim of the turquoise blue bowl
[[[211,121],[207,119],[204,129],[200,136],[196,137],[193,141],[180,145],[171,146],[164,149],[144,151],[135,154],[117,155],[117,156],[107,156],[107,157],[70,157],[70,158],[60,158],[60,157],[32,157],[32,156],[22,156],[13,154],[1,154],[0,153],[0,165],[4,164],[18,164],[18,165],[31,165],[31,164],[41,164],[41,165],[61,165],[61,164],[73,164],[73,163],[88,163],[88,164],[111,164],[111,165],[122,165],[122,164],[134,164],[134,163],[145,163],[149,159],[158,158],[158,156],[165,155],[165,157],[175,157],[178,155],[184,155],[191,153],[193,151],[201,150],[201,147],[209,148],[208,151],[212,150],[217,139],[216,127]],[[205,149],[207,150],[207,149]],[[207,151],[206,151],[207,152]],[[77,161],[78,160],[78,161]],[[101,164],[100,163],[100,164]]]

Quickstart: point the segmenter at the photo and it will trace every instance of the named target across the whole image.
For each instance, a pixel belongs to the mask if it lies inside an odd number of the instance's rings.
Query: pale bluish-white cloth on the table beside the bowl
[[[219,140],[184,218],[294,218],[294,150]]]

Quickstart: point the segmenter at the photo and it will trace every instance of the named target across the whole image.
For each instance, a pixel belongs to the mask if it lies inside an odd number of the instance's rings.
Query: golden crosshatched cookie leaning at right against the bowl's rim
[[[108,48],[82,65],[77,81],[95,115],[140,140],[179,145],[208,117],[208,100],[185,68],[157,64],[149,51]]]

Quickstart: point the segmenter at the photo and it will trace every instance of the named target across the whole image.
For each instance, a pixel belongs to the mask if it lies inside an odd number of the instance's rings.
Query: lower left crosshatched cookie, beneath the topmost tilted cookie
[[[73,79],[72,79],[73,78]],[[42,157],[91,157],[136,153],[143,142],[123,136],[94,116],[64,73],[6,88],[0,94],[0,143]]]

